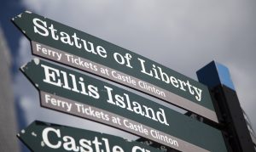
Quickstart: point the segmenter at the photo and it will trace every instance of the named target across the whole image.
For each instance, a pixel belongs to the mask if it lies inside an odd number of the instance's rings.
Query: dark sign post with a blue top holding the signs
[[[255,151],[228,68],[212,61],[198,70],[197,76],[199,82],[212,91],[218,120],[224,126],[227,149],[237,152]]]

